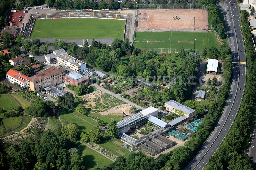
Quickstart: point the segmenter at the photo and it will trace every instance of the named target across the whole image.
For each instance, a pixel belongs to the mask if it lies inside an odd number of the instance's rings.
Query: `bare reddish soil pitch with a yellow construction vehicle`
[[[179,20],[173,19],[176,15]],[[147,30],[147,17],[149,30],[194,30],[194,17],[195,30],[208,29],[208,14],[202,9],[138,10],[135,31]]]

